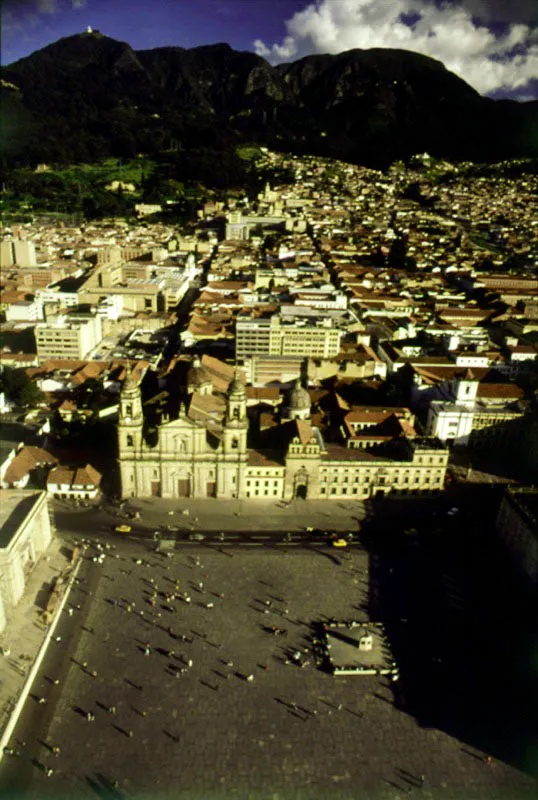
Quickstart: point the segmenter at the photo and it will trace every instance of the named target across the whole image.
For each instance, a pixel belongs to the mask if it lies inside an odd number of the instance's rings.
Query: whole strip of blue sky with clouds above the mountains
[[[2,64],[88,25],[135,50],[228,42],[272,64],[394,47],[495,99],[538,99],[538,0],[3,0]]]

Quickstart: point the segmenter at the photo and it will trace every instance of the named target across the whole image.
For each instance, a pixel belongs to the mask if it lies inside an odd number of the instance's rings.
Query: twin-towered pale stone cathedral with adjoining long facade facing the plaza
[[[195,359],[184,399],[151,428],[128,373],[118,423],[122,497],[364,500],[443,489],[448,450],[416,436],[391,410],[367,435],[353,433],[335,418],[338,403],[336,412],[316,406],[313,413],[311,393],[297,380],[278,407],[260,413],[242,374],[219,364],[215,375]]]

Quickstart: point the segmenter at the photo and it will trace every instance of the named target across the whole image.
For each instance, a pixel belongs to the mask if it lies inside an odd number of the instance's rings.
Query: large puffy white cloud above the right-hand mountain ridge
[[[286,21],[281,43],[258,39],[254,49],[276,64],[312,53],[402,48],[442,61],[482,94],[517,89],[538,77],[538,28],[534,0],[511,0],[510,8],[512,2],[508,17],[504,0],[316,0]],[[410,26],[402,15],[417,20]],[[488,27],[495,22],[504,22],[502,34]]]

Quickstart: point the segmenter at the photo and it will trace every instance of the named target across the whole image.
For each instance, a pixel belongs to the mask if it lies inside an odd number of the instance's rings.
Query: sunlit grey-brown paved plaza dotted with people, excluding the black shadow
[[[420,727],[390,679],[316,669],[311,623],[366,613],[366,552],[105,552],[102,565],[86,552],[2,798],[535,796],[529,776]],[[298,649],[306,667],[286,663]]]

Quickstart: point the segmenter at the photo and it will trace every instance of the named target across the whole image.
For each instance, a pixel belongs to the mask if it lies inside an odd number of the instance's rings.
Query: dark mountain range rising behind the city
[[[441,62],[376,48],[271,66],[227,44],[135,52],[99,32],[60,39],[1,70],[6,163],[243,141],[385,166],[538,156],[538,103],[481,97]]]

